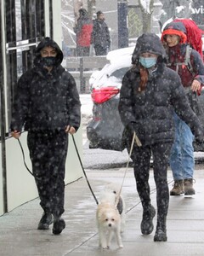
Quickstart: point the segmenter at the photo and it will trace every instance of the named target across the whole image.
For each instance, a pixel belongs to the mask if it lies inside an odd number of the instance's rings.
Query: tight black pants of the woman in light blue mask
[[[156,204],[158,216],[167,216],[169,191],[167,184],[167,166],[172,143],[157,143],[147,147],[134,147],[134,177],[142,206],[150,206],[150,157],[153,156],[154,179],[156,183]]]

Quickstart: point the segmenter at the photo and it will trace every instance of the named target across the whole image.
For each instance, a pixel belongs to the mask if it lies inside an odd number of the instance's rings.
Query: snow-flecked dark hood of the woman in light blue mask
[[[161,44],[161,40],[155,33],[144,33],[137,40],[137,44],[133,51],[132,64],[139,62],[139,55],[144,52],[150,52],[159,55],[161,62],[166,61],[166,52]]]

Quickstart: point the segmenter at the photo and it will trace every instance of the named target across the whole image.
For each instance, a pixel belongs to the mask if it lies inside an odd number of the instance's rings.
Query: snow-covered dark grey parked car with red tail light
[[[93,119],[87,127],[89,148],[122,151],[124,126],[118,112],[122,77],[131,67],[134,47],[113,50],[107,55],[110,61],[101,71],[92,74],[89,84],[94,103]],[[204,90],[199,100],[204,109]],[[204,124],[204,119],[201,120]],[[204,151],[204,145],[194,144],[195,151]]]

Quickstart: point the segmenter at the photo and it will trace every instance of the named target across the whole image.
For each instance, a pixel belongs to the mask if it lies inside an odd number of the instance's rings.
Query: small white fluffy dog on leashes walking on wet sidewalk
[[[116,185],[108,185],[96,212],[99,230],[99,247],[109,248],[112,236],[115,234],[118,247],[122,248],[121,232],[125,225],[125,204],[120,189]]]

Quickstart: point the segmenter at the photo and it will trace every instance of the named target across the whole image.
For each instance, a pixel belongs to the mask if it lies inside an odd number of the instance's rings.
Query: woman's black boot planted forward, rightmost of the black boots
[[[154,241],[167,241],[166,223],[167,223],[167,217],[159,217],[158,216]]]

